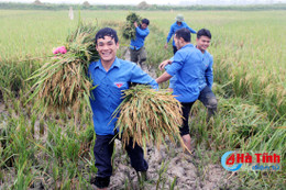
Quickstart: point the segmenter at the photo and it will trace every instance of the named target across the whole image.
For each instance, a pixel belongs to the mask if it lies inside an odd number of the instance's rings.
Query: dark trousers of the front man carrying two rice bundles
[[[114,147],[114,135],[97,135],[94,154],[96,158],[97,178],[96,186],[98,188],[106,188],[109,186],[109,179],[112,175],[111,156]],[[113,141],[112,141],[113,139]],[[133,141],[130,139],[125,145],[125,149],[130,157],[131,166],[136,171],[146,171],[148,169],[147,161],[144,159],[143,149],[135,144],[133,148]]]

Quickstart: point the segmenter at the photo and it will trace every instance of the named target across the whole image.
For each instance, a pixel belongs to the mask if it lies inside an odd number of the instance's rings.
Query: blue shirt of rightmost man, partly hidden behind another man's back
[[[173,60],[174,57],[170,58],[170,60]],[[200,75],[199,78],[199,90],[201,91],[206,86],[208,86],[210,89],[212,88],[212,83],[213,83],[213,72],[212,72],[212,65],[213,65],[213,58],[212,55],[209,52],[205,52],[202,54],[202,64],[205,65],[205,69],[202,70],[202,74]],[[165,69],[167,69],[169,67],[169,65],[167,65],[165,67]],[[169,86],[168,88],[173,88],[175,87],[175,82],[177,80],[176,75],[174,75],[170,79],[169,79]]]

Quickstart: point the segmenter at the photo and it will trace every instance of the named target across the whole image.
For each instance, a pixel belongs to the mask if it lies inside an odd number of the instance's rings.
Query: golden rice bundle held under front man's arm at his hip
[[[146,149],[146,144],[153,143],[160,148],[168,136],[173,143],[179,139],[184,146],[179,135],[182,107],[170,92],[138,85],[123,93],[124,100],[114,112],[114,115],[119,113],[117,127],[123,145],[132,137],[133,146],[138,143]]]

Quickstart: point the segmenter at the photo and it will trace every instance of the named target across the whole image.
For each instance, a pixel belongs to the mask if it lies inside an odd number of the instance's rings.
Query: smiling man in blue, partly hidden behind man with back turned
[[[207,114],[207,122],[209,122],[209,119],[217,112],[218,101],[212,92],[212,83],[213,83],[213,72],[212,72],[212,65],[213,65],[213,58],[211,54],[207,51],[207,48],[210,45],[211,41],[211,33],[207,29],[201,29],[197,33],[197,45],[196,48],[198,48],[202,53],[202,64],[205,65],[205,69],[201,72],[200,79],[199,79],[199,98],[198,100],[204,103],[204,105],[208,109]],[[163,69],[166,65],[168,67],[172,64],[173,58],[169,60],[165,60],[161,65],[161,69]],[[165,67],[165,68],[166,68]],[[169,79],[169,89],[173,90],[175,86],[175,81],[177,80],[176,76],[172,77]]]

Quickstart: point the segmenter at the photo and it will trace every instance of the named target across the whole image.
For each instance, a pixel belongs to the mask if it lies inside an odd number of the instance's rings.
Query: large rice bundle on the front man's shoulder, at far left
[[[99,59],[95,46],[97,26],[80,23],[67,37],[66,53],[57,54],[29,79],[36,79],[30,100],[36,98],[48,110],[77,111],[80,100],[89,104],[92,83],[87,76],[90,62]]]

